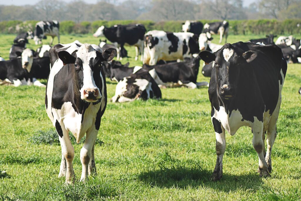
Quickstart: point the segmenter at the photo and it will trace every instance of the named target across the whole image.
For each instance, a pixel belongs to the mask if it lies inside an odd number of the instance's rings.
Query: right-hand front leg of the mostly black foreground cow
[[[268,173],[268,165],[265,162],[265,157],[263,156],[263,141],[262,141],[262,132],[263,132],[263,122],[254,118],[254,123],[252,126],[253,129],[253,147],[256,150],[259,158],[259,175],[261,177],[266,177]]]

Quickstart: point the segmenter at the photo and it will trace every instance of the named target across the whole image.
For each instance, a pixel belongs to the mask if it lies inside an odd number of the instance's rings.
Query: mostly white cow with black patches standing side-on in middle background
[[[199,53],[198,35],[189,32],[153,30],[145,34],[143,64],[155,65],[163,59],[172,61]]]

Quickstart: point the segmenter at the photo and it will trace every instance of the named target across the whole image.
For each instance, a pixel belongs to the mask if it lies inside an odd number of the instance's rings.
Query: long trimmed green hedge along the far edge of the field
[[[216,22],[220,20],[199,20],[203,24]],[[26,31],[28,29],[33,30],[37,21],[2,21],[0,22],[0,33],[17,33],[20,31]],[[94,33],[101,25],[110,27],[115,24],[136,24],[140,23],[145,26],[147,31],[149,30],[164,30],[170,32],[180,32],[182,30],[182,23],[184,21],[162,21],[153,22],[151,20],[98,20],[94,22],[83,21],[76,24],[74,21],[61,21],[60,32],[62,34],[87,34]],[[278,35],[290,35],[300,34],[301,26],[297,27],[297,24],[301,25],[301,19],[293,20],[229,20],[229,34],[232,35],[245,35],[245,34],[278,34]],[[18,26],[17,26],[18,25]],[[16,26],[18,27],[16,29]]]

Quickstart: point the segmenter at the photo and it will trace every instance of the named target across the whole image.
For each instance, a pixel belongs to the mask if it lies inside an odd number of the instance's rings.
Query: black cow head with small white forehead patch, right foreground
[[[219,97],[229,100],[235,96],[240,68],[247,68],[248,63],[256,58],[257,53],[251,50],[243,52],[237,48],[234,50],[231,44],[226,43],[215,53],[203,51],[199,53],[199,56],[206,63],[215,61],[214,68],[216,68]]]

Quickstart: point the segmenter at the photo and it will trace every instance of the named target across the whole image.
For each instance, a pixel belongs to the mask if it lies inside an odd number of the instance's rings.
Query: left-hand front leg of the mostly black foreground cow
[[[226,149],[226,138],[225,138],[225,129],[222,126],[221,122],[217,120],[216,118],[212,117],[212,124],[215,131],[215,137],[216,137],[216,165],[213,170],[211,179],[213,181],[218,181],[223,176],[223,156]]]

